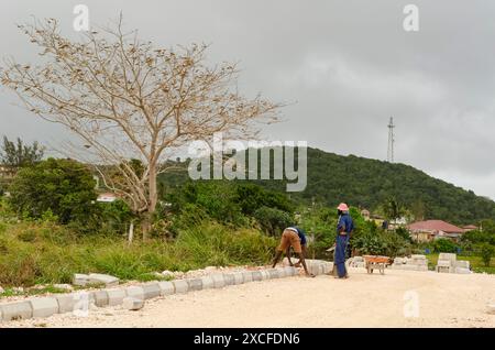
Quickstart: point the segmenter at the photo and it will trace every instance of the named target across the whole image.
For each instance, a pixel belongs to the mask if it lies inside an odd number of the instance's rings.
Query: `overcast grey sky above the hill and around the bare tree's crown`
[[[239,61],[245,95],[296,102],[268,139],[384,160],[394,116],[397,162],[495,198],[495,2],[2,0],[0,56],[35,62],[14,23],[57,18],[73,35],[78,3],[91,24],[122,10],[127,28],[157,46],[205,42],[211,62]],[[407,3],[419,7],[419,32],[403,29]],[[64,138],[16,102],[0,88],[0,134]]]

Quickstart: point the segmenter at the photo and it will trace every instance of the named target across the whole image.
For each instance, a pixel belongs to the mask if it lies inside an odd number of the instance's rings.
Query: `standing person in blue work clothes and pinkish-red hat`
[[[336,239],[336,254],[333,264],[337,267],[337,274],[339,278],[348,278],[348,271],[345,269],[345,255],[349,244],[349,238],[352,230],[354,229],[354,223],[349,215],[349,207],[346,204],[341,203],[338,207],[339,220],[337,223],[337,239]]]

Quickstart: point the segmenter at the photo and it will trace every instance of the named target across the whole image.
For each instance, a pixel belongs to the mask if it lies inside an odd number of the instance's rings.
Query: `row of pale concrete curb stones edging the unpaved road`
[[[308,269],[314,274],[328,273],[329,264],[323,261],[308,261]],[[23,302],[0,304],[0,321],[28,318],[44,318],[54,314],[65,314],[78,310],[84,299],[97,307],[134,305],[138,300],[152,299],[172,294],[222,288],[255,281],[295,276],[297,270],[284,266],[267,270],[239,271],[217,273],[201,278],[175,280],[172,282],[147,282],[128,287],[112,287],[91,292],[58,294],[48,297],[35,297]],[[142,303],[141,303],[142,304]],[[128,307],[128,306],[127,306]],[[130,309],[135,309],[129,306]]]

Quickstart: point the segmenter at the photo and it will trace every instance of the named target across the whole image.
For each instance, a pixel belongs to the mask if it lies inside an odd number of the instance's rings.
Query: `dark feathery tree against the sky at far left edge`
[[[0,147],[0,165],[8,175],[14,175],[21,167],[38,163],[43,158],[43,154],[44,149],[36,141],[29,145],[20,138],[14,142],[3,136]]]

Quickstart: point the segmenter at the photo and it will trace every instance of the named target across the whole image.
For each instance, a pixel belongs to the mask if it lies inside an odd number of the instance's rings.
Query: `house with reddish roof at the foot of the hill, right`
[[[426,220],[407,226],[411,238],[417,242],[430,242],[439,238],[458,240],[465,230],[442,220]]]

